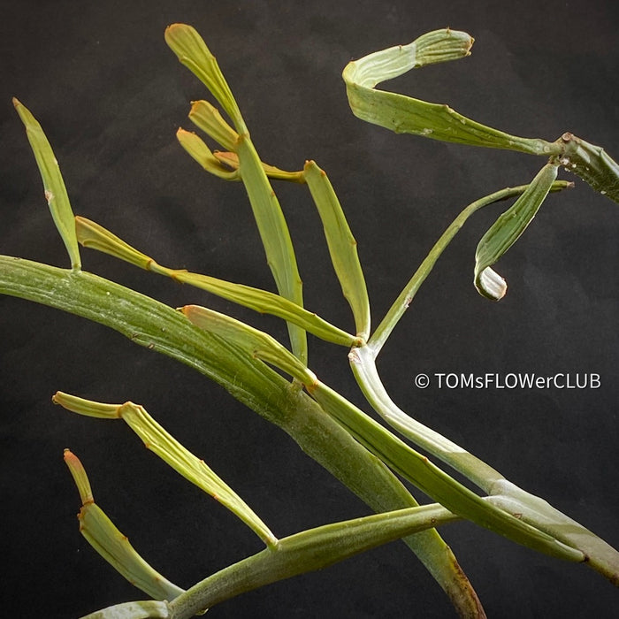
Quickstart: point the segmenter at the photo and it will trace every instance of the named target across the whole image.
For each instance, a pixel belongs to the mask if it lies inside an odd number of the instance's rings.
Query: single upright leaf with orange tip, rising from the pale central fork
[[[305,164],[303,177],[310,187],[318,214],[323,222],[325,238],[333,268],[355,317],[356,333],[364,340],[370,336],[370,300],[356,241],[344,216],[338,196],[325,172],[313,161]]]

